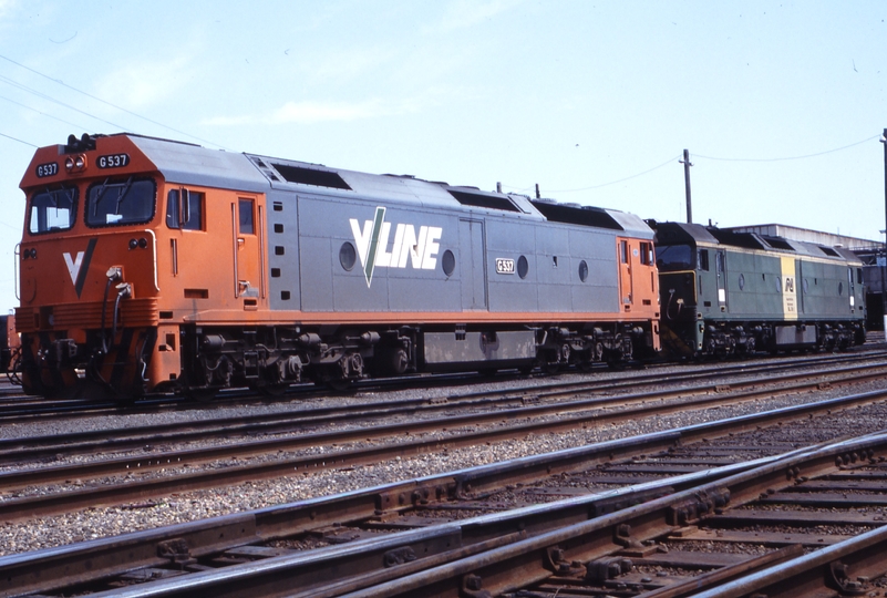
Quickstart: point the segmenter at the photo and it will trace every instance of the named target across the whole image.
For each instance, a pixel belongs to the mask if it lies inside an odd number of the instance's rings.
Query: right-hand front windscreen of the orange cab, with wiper
[[[154,217],[156,186],[149,178],[107,178],[86,192],[86,225],[144,224]]]

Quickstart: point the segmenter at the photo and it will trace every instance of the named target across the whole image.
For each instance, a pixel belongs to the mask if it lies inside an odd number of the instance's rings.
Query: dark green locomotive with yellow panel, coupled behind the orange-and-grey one
[[[865,342],[852,252],[755,233],[649,221],[662,346],[678,355],[846,349]]]

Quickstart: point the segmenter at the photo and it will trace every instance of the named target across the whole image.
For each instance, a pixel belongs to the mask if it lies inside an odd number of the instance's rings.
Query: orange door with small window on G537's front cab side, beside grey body
[[[255,309],[258,300],[266,295],[262,264],[265,228],[258,197],[238,196],[231,202],[231,241],[234,296],[244,300],[244,309]]]

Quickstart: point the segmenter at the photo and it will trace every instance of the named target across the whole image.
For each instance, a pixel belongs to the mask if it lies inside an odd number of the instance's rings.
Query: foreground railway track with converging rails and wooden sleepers
[[[885,427],[885,399],[887,391],[850,395],[4,557],[0,591],[243,596],[249,588],[272,596],[286,587],[298,596],[570,597],[594,595],[570,594],[577,588],[636,596],[730,579],[749,567],[749,555],[694,550],[693,543],[837,546],[883,525],[883,502],[871,496],[885,486],[887,437],[834,440]],[[823,441],[832,444],[818,447]],[[798,504],[805,491],[807,504]],[[847,492],[866,496],[834,496]],[[831,515],[811,517],[814,503]],[[801,514],[774,513],[776,505]],[[871,511],[854,515],[862,505]],[[811,518],[852,530],[798,539]],[[327,547],[305,549],[311,545]],[[772,558],[797,555],[793,548]]]

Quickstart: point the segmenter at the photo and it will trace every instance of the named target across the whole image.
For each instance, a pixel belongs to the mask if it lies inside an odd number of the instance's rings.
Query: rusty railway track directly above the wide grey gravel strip
[[[752,386],[754,390],[726,393],[723,385],[681,388],[670,392],[640,393],[636,395],[613,395],[574,400],[568,403],[550,402],[530,404],[517,409],[470,413],[447,417],[410,420],[402,423],[352,427],[340,431],[300,434],[271,440],[240,442],[221,446],[168,451],[159,454],[145,454],[121,458],[105,458],[90,463],[61,466],[41,466],[0,474],[0,491],[8,496],[0,501],[0,517],[7,520],[33,516],[64,513],[76,508],[114,505],[127,501],[147,501],[169,493],[181,493],[202,488],[226,486],[259,478],[272,478],[293,472],[318,472],[330,468],[354,467],[398,457],[421,455],[427,452],[473,446],[477,444],[506,441],[528,434],[546,434],[586,426],[605,426],[610,423],[631,421],[641,417],[661,416],[691,409],[704,409],[770,398],[781,393],[797,393],[819,389],[823,384],[856,384],[862,380],[879,380],[887,375],[885,367],[854,367],[849,371],[836,372],[834,377],[816,375],[794,384],[787,380],[774,389],[757,388],[760,380],[736,383],[738,386]],[[796,377],[792,377],[796,379]],[[720,392],[715,392],[720,389]],[[661,402],[663,396],[682,396],[679,401]],[[638,404],[635,408],[626,408]],[[609,408],[609,411],[607,409]],[[530,417],[535,417],[530,420]],[[512,422],[503,424],[503,422]],[[278,422],[279,423],[279,422]],[[302,422],[303,424],[303,422]],[[302,425],[300,424],[300,425]],[[486,426],[484,426],[484,424]],[[491,427],[492,426],[492,427]],[[448,432],[441,433],[441,430]],[[185,437],[199,437],[206,430],[188,431]],[[404,441],[404,435],[411,440]],[[414,436],[415,440],[412,440]],[[394,439],[393,442],[390,439]],[[12,444],[24,442],[14,440]],[[120,437],[116,441],[90,441],[78,444],[44,445],[52,439],[35,439],[24,448],[6,448],[6,456],[18,455],[31,458],[52,455],[65,450],[76,454],[89,451],[112,451],[121,447],[144,446],[145,442],[158,440],[157,436]],[[378,440],[388,440],[379,444]],[[10,443],[7,443],[10,444]],[[330,450],[319,451],[327,446]],[[343,446],[337,448],[337,446]],[[354,447],[349,447],[354,446]],[[301,451],[301,453],[296,453]],[[251,457],[260,454],[283,453],[269,461],[207,466],[219,460]],[[291,455],[291,456],[290,456]],[[156,475],[143,475],[149,472]],[[76,489],[72,480],[102,480]],[[53,486],[54,485],[54,486]],[[83,485],[82,482],[79,485]],[[28,489],[34,488],[34,489]]]

